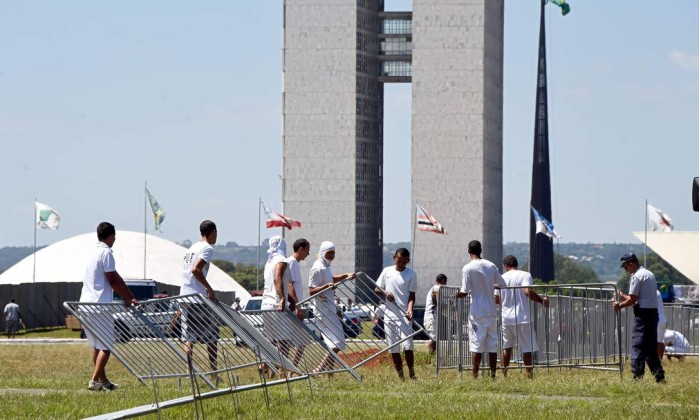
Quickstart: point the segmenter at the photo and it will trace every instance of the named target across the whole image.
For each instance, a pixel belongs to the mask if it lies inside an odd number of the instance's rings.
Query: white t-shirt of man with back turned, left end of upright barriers
[[[461,270],[461,292],[471,296],[473,318],[494,318],[498,315],[495,306],[494,286],[506,286],[498,268],[488,260],[477,259]]]

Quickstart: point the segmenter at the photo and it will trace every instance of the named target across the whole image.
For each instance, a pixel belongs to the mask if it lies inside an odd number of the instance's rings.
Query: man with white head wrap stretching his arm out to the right
[[[345,279],[353,279],[355,273],[333,275],[330,264],[335,260],[335,245],[323,241],[318,251],[318,259],[313,263],[308,273],[308,294],[313,296],[313,308],[316,310],[316,325],[323,335],[323,341],[329,349],[338,353],[344,350],[345,333],[342,329],[342,319],[338,315],[339,308],[335,304],[335,286]],[[325,357],[316,371],[331,367],[331,360]]]

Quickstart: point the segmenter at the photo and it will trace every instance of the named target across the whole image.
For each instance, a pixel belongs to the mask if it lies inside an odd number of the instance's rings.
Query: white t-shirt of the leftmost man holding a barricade
[[[87,259],[80,302],[111,302],[112,286],[105,274],[114,271],[116,268],[112,249],[104,242],[97,242],[97,246]]]

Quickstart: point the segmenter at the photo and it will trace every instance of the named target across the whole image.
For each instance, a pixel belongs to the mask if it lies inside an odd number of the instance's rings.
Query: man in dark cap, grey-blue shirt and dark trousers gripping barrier
[[[638,263],[635,254],[624,254],[621,267],[631,274],[629,294],[620,293],[621,301],[614,302],[615,311],[633,306],[634,322],[631,349],[631,371],[634,379],[641,379],[645,364],[655,376],[656,382],[665,382],[665,371],[656,350],[658,328],[658,303],[655,276]]]

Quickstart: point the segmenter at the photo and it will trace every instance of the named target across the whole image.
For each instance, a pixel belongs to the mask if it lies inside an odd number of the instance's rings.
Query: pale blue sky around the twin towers
[[[698,230],[699,2],[570,3],[547,12],[556,229],[635,242],[647,198]],[[281,16],[281,0],[0,0],[0,247],[32,243],[34,198],[62,216],[39,244],[142,231],[146,180],[165,238],[211,218],[220,242],[257,243],[258,197],[280,208]],[[528,240],[537,37],[538,1],[507,0],[505,241]],[[409,85],[387,86],[385,125],[384,237],[409,240]]]

